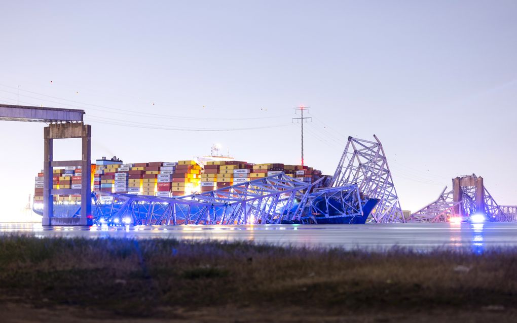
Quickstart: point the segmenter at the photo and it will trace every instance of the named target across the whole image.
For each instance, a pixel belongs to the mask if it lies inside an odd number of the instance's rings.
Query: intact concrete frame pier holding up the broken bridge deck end
[[[54,139],[81,138],[82,156],[81,160],[75,161],[54,161],[53,141]],[[92,225],[92,126],[84,125],[82,122],[65,122],[61,124],[50,124],[43,129],[44,156],[43,156],[43,219],[42,225]],[[81,189],[54,190],[52,187],[53,168],[55,166],[81,166]],[[54,214],[54,195],[81,194],[81,213],[79,218],[60,217]]]

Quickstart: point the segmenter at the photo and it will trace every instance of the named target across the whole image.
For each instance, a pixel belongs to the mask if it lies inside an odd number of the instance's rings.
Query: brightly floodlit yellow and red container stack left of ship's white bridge
[[[172,174],[172,195],[192,194],[199,190],[201,166],[194,160],[180,160]]]

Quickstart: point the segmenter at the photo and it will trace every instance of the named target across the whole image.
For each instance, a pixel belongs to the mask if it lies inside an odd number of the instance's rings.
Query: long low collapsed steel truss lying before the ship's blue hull
[[[106,193],[95,199],[95,219],[110,224],[258,224],[300,220],[311,189],[322,179],[306,183],[278,174],[216,191],[181,197]]]

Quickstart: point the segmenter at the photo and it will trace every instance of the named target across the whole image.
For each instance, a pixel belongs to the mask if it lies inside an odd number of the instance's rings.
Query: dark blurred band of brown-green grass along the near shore
[[[316,313],[432,311],[494,312],[514,319],[516,260],[517,249],[475,255],[4,236],[0,306],[65,306],[91,318],[103,313],[104,318],[173,319],[180,311],[180,319],[189,319],[185,313],[200,309],[228,315],[270,309],[275,318],[275,311],[299,309],[293,311],[303,315],[301,321]]]

